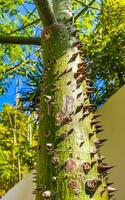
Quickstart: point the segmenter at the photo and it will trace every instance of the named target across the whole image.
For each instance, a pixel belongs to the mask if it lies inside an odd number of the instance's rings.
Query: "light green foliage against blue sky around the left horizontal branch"
[[[4,2],[4,3],[3,3]],[[32,1],[23,0],[0,1],[0,34],[36,36],[39,32],[38,15]],[[13,23],[14,22],[14,23]],[[30,25],[31,24],[31,25]],[[4,94],[10,85],[8,78],[16,74],[27,76],[27,71],[33,71],[39,58],[39,48],[23,45],[1,45],[0,47],[0,94]]]

